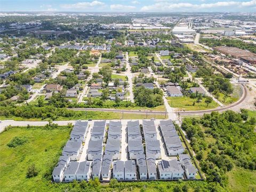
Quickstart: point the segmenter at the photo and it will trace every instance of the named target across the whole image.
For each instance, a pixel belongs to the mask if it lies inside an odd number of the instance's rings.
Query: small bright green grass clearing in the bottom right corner
[[[253,191],[256,188],[256,171],[235,167],[227,175],[229,191]]]

